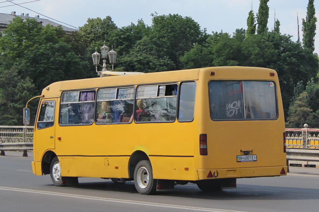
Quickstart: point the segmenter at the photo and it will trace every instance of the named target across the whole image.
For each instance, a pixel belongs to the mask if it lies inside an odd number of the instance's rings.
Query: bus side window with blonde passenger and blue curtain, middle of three
[[[95,122],[127,123],[133,113],[135,88],[107,88],[98,91]]]

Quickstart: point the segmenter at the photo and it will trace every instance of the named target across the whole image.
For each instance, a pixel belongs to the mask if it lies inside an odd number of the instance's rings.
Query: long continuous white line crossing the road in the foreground
[[[242,212],[242,211],[239,211],[239,210],[224,210],[224,209],[216,209],[216,208],[200,208],[200,207],[191,207],[191,206],[182,206],[182,205],[170,205],[170,204],[161,204],[161,203],[154,203],[154,202],[143,202],[143,201],[133,201],[133,200],[112,199],[112,198],[96,197],[96,196],[85,196],[85,195],[78,195],[78,194],[64,194],[64,193],[59,193],[59,192],[38,191],[38,190],[13,188],[13,187],[2,187],[2,186],[0,186],[0,190],[19,191],[19,192],[27,192],[27,193],[35,193],[35,194],[47,194],[47,195],[55,195],[55,196],[65,196],[65,197],[72,197],[72,198],[79,198],[79,199],[87,199],[87,200],[100,200],[100,201],[119,202],[119,203],[144,205],[144,206],[154,206],[154,207],[163,207],[163,208],[176,208],[176,209],[210,211],[210,212],[226,212],[226,211],[227,212]]]

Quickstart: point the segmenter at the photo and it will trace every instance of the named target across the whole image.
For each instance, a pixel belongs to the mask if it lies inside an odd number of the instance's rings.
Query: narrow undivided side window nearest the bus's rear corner
[[[179,122],[191,122],[194,119],[196,82],[182,82],[179,95]]]

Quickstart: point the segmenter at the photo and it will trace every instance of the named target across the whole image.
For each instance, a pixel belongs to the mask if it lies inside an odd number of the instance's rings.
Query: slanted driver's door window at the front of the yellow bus
[[[42,102],[37,123],[38,130],[54,125],[54,108],[54,101]]]

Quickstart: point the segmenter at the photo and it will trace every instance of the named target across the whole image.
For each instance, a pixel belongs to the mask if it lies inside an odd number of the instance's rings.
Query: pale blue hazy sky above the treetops
[[[28,13],[30,17],[53,18],[75,27],[83,26],[88,18],[105,18],[111,16],[118,27],[137,24],[143,19],[147,25],[152,25],[152,13],[158,15],[179,14],[191,17],[201,29],[207,33],[228,32],[236,29],[247,29],[249,11],[258,12],[259,0],[0,0],[0,13],[17,15]],[[30,2],[26,4],[20,4]],[[13,4],[20,4],[13,5]],[[270,0],[268,28],[273,29],[274,15],[280,21],[280,32],[292,35],[292,40],[298,39],[297,14],[299,19],[300,40],[302,38],[302,18],[306,18],[308,0]],[[319,10],[319,0],[315,0],[315,9]],[[9,6],[12,5],[12,6]],[[26,8],[23,8],[23,7]],[[43,16],[44,15],[44,16]],[[316,13],[319,20],[319,13]],[[49,19],[46,18],[46,19]],[[52,20],[52,19],[51,19]],[[54,20],[53,20],[54,21]],[[55,21],[56,22],[56,21]],[[59,22],[57,22],[59,23]],[[65,24],[62,24],[65,25]],[[69,26],[70,27],[70,26]],[[71,27],[73,28],[73,27]],[[315,39],[315,52],[319,52],[319,21]]]

